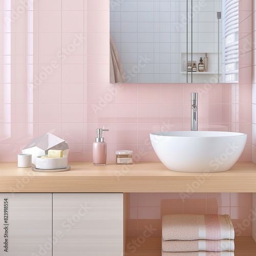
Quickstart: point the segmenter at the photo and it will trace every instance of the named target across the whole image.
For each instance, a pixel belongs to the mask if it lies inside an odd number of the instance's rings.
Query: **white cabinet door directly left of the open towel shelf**
[[[123,194],[53,194],[53,256],[121,256]]]

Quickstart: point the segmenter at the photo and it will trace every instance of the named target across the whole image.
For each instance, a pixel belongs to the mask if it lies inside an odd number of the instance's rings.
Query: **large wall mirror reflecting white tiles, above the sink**
[[[110,0],[110,82],[237,82],[238,1]]]

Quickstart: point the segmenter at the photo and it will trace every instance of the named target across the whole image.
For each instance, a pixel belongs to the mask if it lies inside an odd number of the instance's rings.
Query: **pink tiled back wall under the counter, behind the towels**
[[[251,193],[130,193],[127,236],[138,237],[146,227],[161,236],[161,218],[169,214],[228,214],[236,237],[251,236]]]

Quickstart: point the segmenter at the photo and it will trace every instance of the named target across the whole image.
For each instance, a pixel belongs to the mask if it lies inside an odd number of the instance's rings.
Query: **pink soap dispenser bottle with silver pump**
[[[106,164],[106,143],[102,136],[103,131],[109,131],[109,129],[97,129],[98,137],[95,138],[93,143],[93,164],[105,165]]]

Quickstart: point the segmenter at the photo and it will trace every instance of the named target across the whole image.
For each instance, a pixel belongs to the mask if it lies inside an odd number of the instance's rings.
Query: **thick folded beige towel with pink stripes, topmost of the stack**
[[[229,215],[164,215],[162,238],[164,241],[234,239],[234,228]]]

